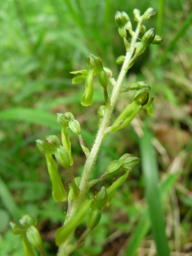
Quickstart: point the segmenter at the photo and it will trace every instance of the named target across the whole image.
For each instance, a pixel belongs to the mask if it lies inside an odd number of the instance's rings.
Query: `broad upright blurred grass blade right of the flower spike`
[[[145,196],[149,206],[150,222],[158,256],[169,256],[169,246],[165,233],[164,214],[158,188],[158,166],[155,151],[151,143],[152,135],[145,125],[144,135],[140,140],[142,172],[145,177]]]

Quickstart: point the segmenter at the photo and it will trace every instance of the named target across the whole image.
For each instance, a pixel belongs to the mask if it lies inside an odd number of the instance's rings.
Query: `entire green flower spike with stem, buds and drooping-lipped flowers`
[[[70,112],[57,113],[57,122],[61,126],[61,141],[56,135],[46,136],[44,140],[36,140],[39,151],[45,155],[47,170],[52,185],[53,200],[55,202],[64,202],[67,200],[68,202],[64,225],[58,228],[55,235],[55,244],[59,246],[58,256],[70,255],[74,250],[83,246],[85,238],[99,224],[102,208],[104,206],[110,206],[115,191],[126,181],[128,173],[139,162],[139,158],[133,154],[123,154],[119,159],[110,162],[100,177],[90,180],[91,170],[96,162],[99,148],[101,147],[101,143],[107,138],[107,134],[126,127],[137,116],[139,110],[146,110],[148,115],[153,115],[152,104],[154,97],[150,96],[151,87],[147,82],[135,81],[128,86],[122,86],[126,72],[134,64],[137,56],[144,53],[151,44],[159,44],[162,41],[161,37],[155,34],[155,29],[147,30],[143,25],[143,22],[153,15],[155,15],[153,8],[147,9],[143,15],[140,15],[138,9],[134,9],[134,20],[138,23],[137,29],[134,31],[128,14],[126,12],[116,12],[115,23],[118,26],[118,33],[122,37],[126,48],[126,55],[119,56],[116,61],[117,64],[122,64],[118,80],[112,78],[112,71],[104,67],[101,59],[93,54],[88,59],[85,59],[85,69],[71,72],[73,75],[80,74],[72,78],[72,83],[76,84],[85,81],[85,91],[81,99],[83,106],[88,107],[93,104],[94,76],[98,78],[99,85],[103,89],[104,105],[101,105],[97,111],[99,132],[93,143],[93,148],[90,150],[85,146],[80,123]],[[131,41],[127,39],[128,34],[131,36]],[[142,35],[141,39],[139,38],[140,35]],[[108,94],[109,83],[112,86],[111,97]],[[120,93],[128,93],[129,91],[135,91],[131,102],[109,126],[118,95]],[[72,142],[69,137],[69,130],[77,136],[86,157],[85,167],[81,177],[74,177],[72,171],[74,160],[72,157]],[[66,189],[61,181],[58,165],[66,169],[66,173],[70,179],[69,189]],[[101,181],[103,182],[108,176],[113,176],[114,173],[116,175],[118,173],[119,177],[109,187],[102,185],[98,193],[91,196],[90,189],[100,184]],[[82,233],[80,238],[76,238],[76,241],[72,243],[74,231],[87,214],[87,229]],[[45,255],[42,249],[42,238],[36,227],[36,219],[29,215],[24,215],[20,219],[20,225],[11,222],[10,226],[13,233],[21,236],[26,256],[36,255],[36,249],[39,250],[42,256]]]

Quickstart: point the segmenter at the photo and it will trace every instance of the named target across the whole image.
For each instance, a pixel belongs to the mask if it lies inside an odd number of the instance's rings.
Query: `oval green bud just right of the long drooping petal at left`
[[[63,146],[59,146],[55,150],[55,158],[57,159],[58,163],[66,168],[66,170],[70,170],[70,160],[69,160],[69,153]]]

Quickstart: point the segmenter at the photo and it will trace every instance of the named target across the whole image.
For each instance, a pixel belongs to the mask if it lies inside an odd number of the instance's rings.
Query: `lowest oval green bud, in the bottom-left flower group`
[[[33,225],[31,227],[28,227],[28,230],[26,232],[27,239],[29,243],[34,246],[35,248],[42,250],[42,238],[39,234],[39,231],[36,227]]]

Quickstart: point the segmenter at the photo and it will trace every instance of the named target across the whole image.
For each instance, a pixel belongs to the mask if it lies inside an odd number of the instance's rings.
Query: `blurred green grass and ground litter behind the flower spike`
[[[93,176],[124,153],[143,162],[154,159],[147,177],[141,164],[105,208],[101,222],[92,231],[79,255],[156,255],[151,215],[147,214],[146,188],[159,182],[166,234],[172,255],[192,255],[192,2],[191,0],[4,0],[0,1],[0,252],[23,256],[20,238],[9,230],[9,221],[31,214],[39,221],[47,256],[55,255],[55,230],[64,221],[66,206],[55,204],[45,159],[34,140],[60,135],[55,113],[70,111],[80,121],[86,146],[91,147],[98,127],[97,109],[103,104],[96,85],[91,108],[80,105],[83,84],[72,85],[72,70],[83,69],[90,53],[100,56],[117,77],[115,59],[125,53],[114,22],[115,12],[145,12],[153,7],[157,15],[147,21],[164,38],[137,59],[125,80],[146,80],[153,86],[155,113],[147,120],[153,132],[153,149],[140,143],[141,112],[131,125],[108,136],[101,148]],[[122,94],[115,116],[130,98]],[[114,119],[115,119],[114,116]],[[82,172],[85,158],[77,138],[72,137],[73,171]],[[158,168],[158,178],[149,178]],[[68,177],[61,170],[64,184]],[[109,184],[115,177],[108,178]],[[159,181],[158,181],[159,180]],[[157,195],[158,196],[158,195]],[[153,200],[147,198],[148,203]],[[150,220],[152,222],[150,222]],[[158,222],[158,219],[155,219]],[[86,223],[86,222],[85,222]],[[82,223],[76,236],[84,230]],[[151,224],[153,235],[151,233]],[[161,230],[161,227],[160,227]],[[156,232],[155,232],[156,231]],[[161,239],[161,232],[158,239]],[[161,255],[162,256],[162,255]]]

